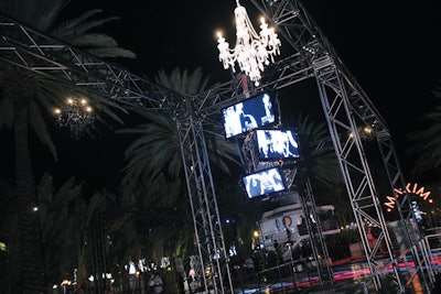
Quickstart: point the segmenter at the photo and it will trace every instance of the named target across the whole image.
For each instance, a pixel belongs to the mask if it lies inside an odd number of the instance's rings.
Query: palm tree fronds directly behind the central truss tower
[[[205,90],[207,78],[202,78],[201,68],[197,67],[192,74],[187,70],[181,72],[178,67],[170,76],[161,69],[155,76],[158,85],[181,95],[194,95]],[[119,134],[131,134],[138,137],[126,150],[125,157],[128,164],[125,168],[123,182],[149,182],[160,174],[179,179],[182,175],[181,144],[176,130],[176,123],[171,119],[171,113],[161,113],[150,109],[129,108],[141,115],[148,122],[138,124],[136,128],[118,130]],[[228,173],[228,164],[220,159],[239,164],[237,151],[225,142],[225,138],[209,129],[205,130],[209,159],[224,172]],[[185,151],[184,151],[185,152]],[[143,179],[140,179],[143,177]]]

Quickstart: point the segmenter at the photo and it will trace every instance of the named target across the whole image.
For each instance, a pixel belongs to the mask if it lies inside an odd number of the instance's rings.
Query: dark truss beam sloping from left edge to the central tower
[[[146,108],[179,107],[180,95],[0,14],[0,61]]]

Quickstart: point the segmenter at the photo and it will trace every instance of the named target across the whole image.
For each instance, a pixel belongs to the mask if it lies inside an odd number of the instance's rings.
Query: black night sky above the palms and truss
[[[138,54],[137,61],[119,63],[132,73],[153,80],[159,69],[171,72],[181,67],[193,70],[201,66],[213,83],[230,78],[230,73],[223,68],[217,57],[216,32],[223,30],[229,44],[235,43],[235,0],[72,2],[68,14],[78,15],[85,10],[99,8],[104,10],[103,15],[121,17],[120,21],[108,24],[105,32],[114,36],[120,46]],[[441,79],[441,10],[435,7],[437,1],[385,2],[303,1],[343,63],[386,119],[400,161],[407,167],[405,134],[418,129],[420,115],[433,107],[431,91]],[[254,18],[256,8],[250,1],[243,0],[240,3],[257,28],[258,18]],[[283,51],[283,39],[281,42]],[[297,89],[294,92],[303,91]],[[314,98],[302,98],[297,95],[299,100],[292,105],[297,108],[304,106],[303,112],[308,115],[310,110],[305,101]],[[318,95],[316,101],[320,104]],[[282,104],[291,105],[287,101]],[[289,107],[283,111],[290,111]],[[77,154],[82,150],[92,152],[95,149],[114,152],[110,151],[112,142],[115,140],[108,135],[93,149],[89,149],[89,141],[65,142],[64,145],[69,146],[69,152],[76,149]],[[106,165],[110,164],[110,156],[121,155],[107,154],[97,160],[105,167],[90,168],[82,166],[75,156],[66,156],[69,157],[67,161],[74,162],[71,164],[77,166],[71,168],[96,174],[109,170]]]

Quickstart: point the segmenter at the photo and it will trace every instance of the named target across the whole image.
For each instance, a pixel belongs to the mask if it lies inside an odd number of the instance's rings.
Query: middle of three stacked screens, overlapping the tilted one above
[[[299,155],[299,140],[292,129],[257,129],[256,144],[259,160],[295,160]]]

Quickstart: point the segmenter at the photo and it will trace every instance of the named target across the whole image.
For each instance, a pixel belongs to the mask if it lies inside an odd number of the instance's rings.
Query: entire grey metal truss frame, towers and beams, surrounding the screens
[[[406,182],[385,120],[300,1],[251,2],[276,25],[278,33],[284,39],[283,50],[292,51],[289,56],[268,66],[262,75],[261,85],[252,90],[259,92],[282,89],[304,79],[316,80],[332,146],[337,155],[349,203],[361,230],[372,273],[369,282],[376,290],[384,286],[381,279],[385,264],[379,255],[383,244],[389,260],[389,264],[386,265],[391,265],[392,269],[390,280],[396,285],[397,293],[404,293],[407,288],[398,269],[399,257],[396,257],[392,250],[380,199],[386,195],[394,195],[394,189],[405,187]],[[182,152],[190,151],[191,154],[190,157],[183,154],[183,161],[202,260],[200,270],[207,273],[203,274],[205,293],[209,290],[215,293],[233,293],[228,254],[223,239],[203,126],[219,124],[220,108],[245,98],[241,94],[246,86],[243,79],[234,79],[197,96],[181,97],[131,74],[126,68],[85,54],[4,15],[0,15],[0,62],[56,78],[61,83],[77,86],[121,104],[158,111],[173,111]],[[375,183],[372,174],[366,146],[359,133],[359,129],[365,127],[375,131],[378,156],[385,166],[384,183],[388,186],[386,192],[379,189],[380,185]],[[413,240],[408,238],[409,250],[416,261],[420,282],[426,292],[430,293],[429,287],[434,281],[433,271],[427,258],[428,251],[423,243],[419,242],[418,228],[412,226],[409,199],[402,197],[397,203],[407,236],[417,236]],[[367,239],[365,220],[380,229],[374,246],[370,246]]]

